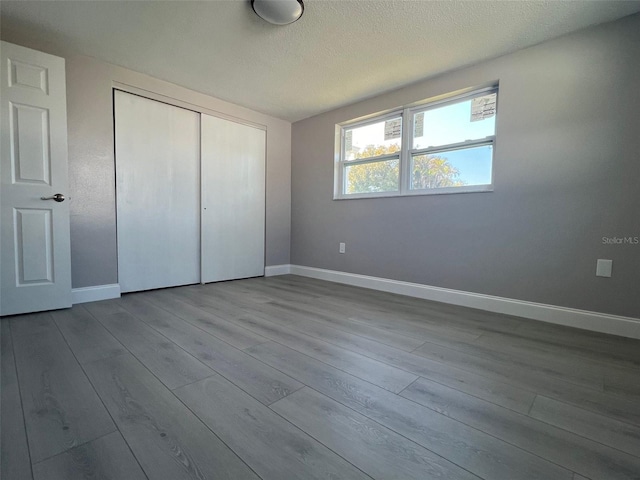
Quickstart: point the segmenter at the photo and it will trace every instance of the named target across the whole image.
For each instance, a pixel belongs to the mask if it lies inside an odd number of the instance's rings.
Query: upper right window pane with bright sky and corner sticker
[[[413,116],[413,149],[478,140],[495,134],[496,94],[419,112]]]

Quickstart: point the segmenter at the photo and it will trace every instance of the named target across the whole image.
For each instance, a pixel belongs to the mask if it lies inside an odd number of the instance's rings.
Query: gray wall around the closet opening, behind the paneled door
[[[291,124],[142,75],[76,56],[25,27],[2,39],[66,58],[73,287],[117,283],[113,82],[125,83],[267,127],[266,264],[289,263]]]

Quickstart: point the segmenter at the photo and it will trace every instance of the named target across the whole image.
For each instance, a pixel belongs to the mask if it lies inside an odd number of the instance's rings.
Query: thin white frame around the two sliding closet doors
[[[131,85],[128,83],[124,83],[124,82],[118,82],[118,81],[113,81],[111,83],[112,86],[112,98],[114,98],[115,96],[115,91],[119,90],[125,93],[131,93],[133,95],[138,95],[140,97],[144,97],[147,98],[149,100],[155,100],[157,102],[161,102],[161,103],[166,103],[168,105],[172,105],[174,107],[179,107],[179,108],[184,108],[186,110],[191,110],[193,112],[199,113],[199,114],[205,114],[205,115],[211,115],[213,117],[217,117],[217,118],[221,118],[223,120],[228,120],[231,122],[235,122],[235,123],[239,123],[241,125],[246,125],[248,127],[253,127],[256,128],[258,130],[263,130],[265,132],[265,152],[264,152],[264,168],[265,168],[265,176],[264,176],[264,181],[265,181],[265,186],[264,186],[264,192],[265,192],[265,211],[264,211],[264,237],[263,237],[263,242],[264,242],[264,258],[263,258],[263,263],[264,266],[266,268],[266,228],[267,228],[267,212],[266,212],[266,195],[267,195],[267,145],[268,145],[268,132],[267,132],[267,126],[263,125],[261,123],[257,123],[257,122],[252,122],[250,120],[246,120],[244,118],[240,118],[240,117],[235,117],[233,115],[229,115],[223,112],[219,112],[217,110],[212,110],[210,108],[204,107],[202,105],[199,104],[195,104],[195,103],[191,103],[189,101],[186,100],[181,100],[179,98],[175,98],[169,95],[164,95],[162,93],[158,93],[155,92],[153,90],[148,90],[145,88],[140,88],[137,87],[135,85]],[[115,107],[115,105],[114,105]],[[114,112],[115,113],[115,112]],[[115,117],[114,117],[115,119]],[[114,130],[114,151],[115,151],[115,130]],[[115,163],[114,163],[114,168],[115,168]],[[115,185],[114,185],[115,187]],[[201,185],[201,189],[202,189],[202,185]],[[200,190],[200,198],[202,198],[202,190]],[[117,196],[116,196],[116,202],[117,202]],[[202,204],[200,205],[200,213],[202,214]],[[116,211],[117,211],[117,203],[116,203]],[[202,225],[200,225],[200,235],[202,235]],[[202,244],[200,245],[200,255],[202,257]],[[202,265],[201,265],[202,267]],[[202,276],[202,268],[200,270],[200,283],[205,283],[203,282],[203,276]]]

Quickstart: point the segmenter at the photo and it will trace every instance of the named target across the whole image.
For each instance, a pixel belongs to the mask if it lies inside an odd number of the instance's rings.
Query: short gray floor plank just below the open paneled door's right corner
[[[121,355],[127,349],[81,305],[51,312],[80,363]]]

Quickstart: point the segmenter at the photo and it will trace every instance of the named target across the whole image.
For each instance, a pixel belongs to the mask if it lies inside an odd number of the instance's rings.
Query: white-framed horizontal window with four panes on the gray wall
[[[334,198],[490,191],[497,96],[477,90],[338,126]]]

